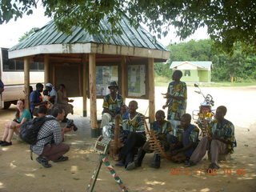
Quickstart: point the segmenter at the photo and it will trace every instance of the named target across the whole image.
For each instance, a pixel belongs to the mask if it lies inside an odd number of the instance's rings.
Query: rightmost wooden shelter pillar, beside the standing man
[[[154,58],[148,58],[149,69],[149,121],[154,122],[155,104],[154,104]]]

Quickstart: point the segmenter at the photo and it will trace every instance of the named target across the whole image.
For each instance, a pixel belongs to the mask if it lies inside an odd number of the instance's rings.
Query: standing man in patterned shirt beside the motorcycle
[[[170,82],[168,90],[164,95],[166,105],[162,106],[165,109],[168,106],[167,119],[170,121],[174,129],[174,135],[177,132],[177,126],[180,125],[182,114],[186,113],[186,82],[181,82],[182,71],[175,70],[172,76],[174,82]]]

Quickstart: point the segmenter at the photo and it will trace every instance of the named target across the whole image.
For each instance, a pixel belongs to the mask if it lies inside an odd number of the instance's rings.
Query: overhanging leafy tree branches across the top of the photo
[[[16,3],[20,2],[19,5]],[[0,24],[22,14],[32,14],[36,0],[2,0]],[[117,23],[127,14],[130,24],[146,23],[158,36],[166,35],[169,26],[177,28],[181,39],[207,26],[214,45],[233,54],[234,43],[242,50],[256,53],[256,2],[254,0],[42,0],[45,14],[54,18],[58,30],[70,33],[72,26],[82,26],[89,33],[120,34]],[[111,29],[100,29],[107,19]]]

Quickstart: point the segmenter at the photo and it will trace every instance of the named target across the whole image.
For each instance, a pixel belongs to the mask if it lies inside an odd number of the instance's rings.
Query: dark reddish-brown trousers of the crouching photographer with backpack
[[[46,157],[48,160],[56,160],[59,157],[61,157],[63,154],[66,154],[70,150],[70,146],[60,143],[56,145],[55,143],[53,144],[48,144],[44,147],[42,151],[42,156]]]

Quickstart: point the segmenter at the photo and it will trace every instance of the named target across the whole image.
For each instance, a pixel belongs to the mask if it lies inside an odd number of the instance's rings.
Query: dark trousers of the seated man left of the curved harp
[[[120,158],[122,159],[122,162],[124,162],[126,165],[129,162],[134,162],[134,149],[136,147],[143,146],[145,142],[146,137],[144,134],[130,132],[130,134],[128,134],[125,146],[123,146],[120,151]]]

